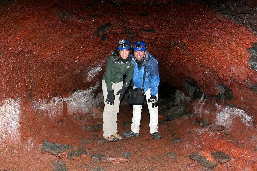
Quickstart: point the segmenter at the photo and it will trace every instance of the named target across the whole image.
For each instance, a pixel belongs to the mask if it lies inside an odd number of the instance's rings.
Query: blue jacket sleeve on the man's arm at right
[[[155,58],[150,59],[150,88],[151,88],[151,95],[156,95],[158,93],[159,83],[160,83],[160,76],[159,76],[159,65]]]

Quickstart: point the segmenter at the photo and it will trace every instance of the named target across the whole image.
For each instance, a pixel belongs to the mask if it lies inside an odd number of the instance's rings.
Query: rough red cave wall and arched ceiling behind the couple
[[[256,10],[247,2],[246,9]],[[59,119],[82,115],[84,121],[75,123],[87,123],[89,106],[102,101],[105,62],[119,38],[146,41],[160,77],[186,95],[186,85],[193,84],[211,100],[246,111],[256,123],[256,27],[224,15],[235,16],[235,8],[221,12],[215,5],[3,1],[0,148],[43,133]],[[232,95],[217,98],[226,90]]]

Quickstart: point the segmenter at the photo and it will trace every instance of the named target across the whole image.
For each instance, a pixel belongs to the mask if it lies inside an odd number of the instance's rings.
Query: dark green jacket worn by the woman
[[[109,56],[103,75],[103,80],[105,80],[108,91],[112,90],[113,83],[123,81],[123,76],[126,74],[127,76],[123,86],[128,87],[134,72],[134,65],[130,61],[131,59],[126,64],[123,64],[121,60],[115,61],[114,55]]]

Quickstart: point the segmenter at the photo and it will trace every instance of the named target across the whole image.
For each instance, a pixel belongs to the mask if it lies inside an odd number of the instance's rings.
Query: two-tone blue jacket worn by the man
[[[160,83],[159,76],[159,66],[158,61],[152,56],[148,50],[146,50],[146,57],[140,69],[138,69],[137,63],[134,58],[134,54],[131,54],[132,64],[134,64],[133,82],[137,88],[143,88],[143,78],[144,78],[144,67],[147,66],[146,77],[144,82],[144,91],[151,88],[151,95],[156,95],[158,93],[158,87]]]

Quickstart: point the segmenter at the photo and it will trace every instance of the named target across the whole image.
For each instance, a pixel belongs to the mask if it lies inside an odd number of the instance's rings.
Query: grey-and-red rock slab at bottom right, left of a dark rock
[[[192,154],[190,158],[200,163],[204,168],[212,169],[217,166],[217,162],[211,157],[211,154],[202,150]]]

